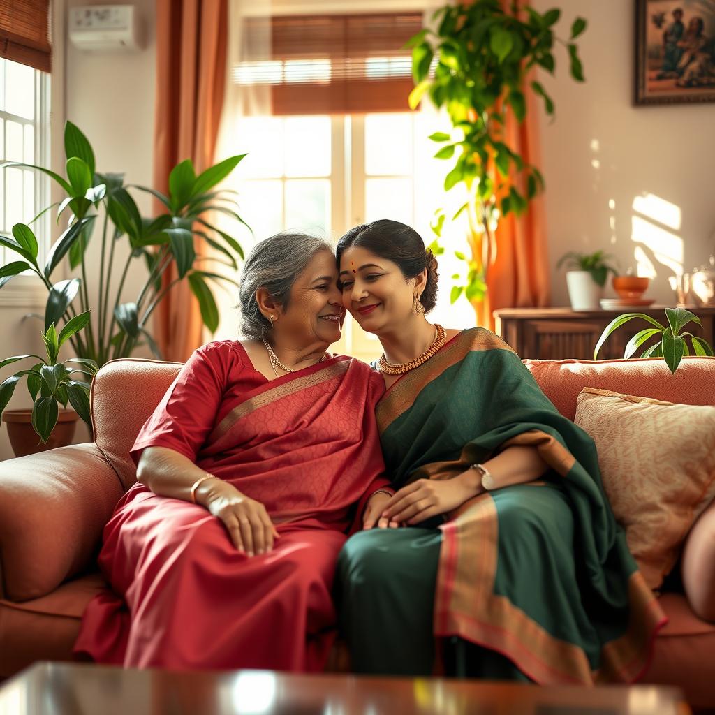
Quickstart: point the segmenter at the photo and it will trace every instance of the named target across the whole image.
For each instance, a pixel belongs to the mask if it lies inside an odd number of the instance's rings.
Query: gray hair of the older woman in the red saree
[[[295,279],[318,251],[333,252],[326,240],[295,231],[282,231],[253,247],[239,281],[241,334],[244,337],[263,340],[271,329],[270,320],[259,310],[257,290],[265,288],[285,310]]]

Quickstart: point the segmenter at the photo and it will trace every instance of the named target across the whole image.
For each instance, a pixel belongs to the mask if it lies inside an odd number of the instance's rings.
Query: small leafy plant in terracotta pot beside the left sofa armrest
[[[86,358],[58,362],[64,342],[77,335],[88,323],[89,312],[79,313],[67,321],[59,335],[54,323],[51,323],[42,333],[46,359],[32,354],[15,355],[0,361],[0,368],[28,358],[35,361],[29,370],[21,370],[0,383],[0,413],[8,426],[10,444],[16,457],[71,443],[78,415],[92,427],[89,387],[97,372],[97,363]],[[27,378],[27,390],[34,403],[32,409],[5,410],[23,377]],[[67,409],[68,403],[74,410]],[[59,405],[63,409],[60,410]]]

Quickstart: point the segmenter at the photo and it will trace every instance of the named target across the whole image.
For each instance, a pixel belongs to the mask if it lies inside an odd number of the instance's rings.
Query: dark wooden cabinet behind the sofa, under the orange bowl
[[[496,332],[508,342],[520,358],[535,360],[593,360],[593,349],[603,329],[614,317],[624,312],[643,312],[658,320],[666,320],[665,306],[631,310],[575,311],[558,308],[503,308],[495,310]],[[715,307],[688,307],[697,315],[702,327],[691,322],[686,330],[704,337],[713,344]],[[634,318],[616,330],[598,352],[598,359],[623,358],[628,340],[649,323]],[[651,345],[653,340],[646,343]],[[640,354],[639,351],[637,354]]]

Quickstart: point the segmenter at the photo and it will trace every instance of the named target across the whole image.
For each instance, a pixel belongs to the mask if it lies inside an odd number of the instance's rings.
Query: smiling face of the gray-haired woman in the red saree
[[[274,330],[296,347],[340,340],[345,309],[337,289],[335,256],[318,251],[298,274],[287,308],[280,311]]]

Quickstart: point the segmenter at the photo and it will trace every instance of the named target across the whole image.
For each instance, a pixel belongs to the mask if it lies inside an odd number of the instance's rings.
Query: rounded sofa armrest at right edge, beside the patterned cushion
[[[715,500],[701,513],[686,538],[683,586],[696,616],[715,621]]]

